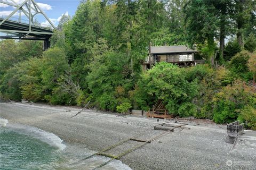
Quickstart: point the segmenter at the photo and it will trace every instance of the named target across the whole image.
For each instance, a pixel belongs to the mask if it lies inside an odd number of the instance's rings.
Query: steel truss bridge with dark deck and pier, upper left
[[[0,0],[0,3],[13,6],[15,9],[5,18],[0,18],[0,32],[6,34],[0,39],[44,40],[44,49],[50,47],[49,39],[56,29],[43,10],[34,0],[25,0],[21,4],[13,0]],[[14,14],[19,18],[14,18]],[[42,25],[34,21],[34,16],[42,14],[50,25]],[[26,20],[21,18],[24,16]]]

